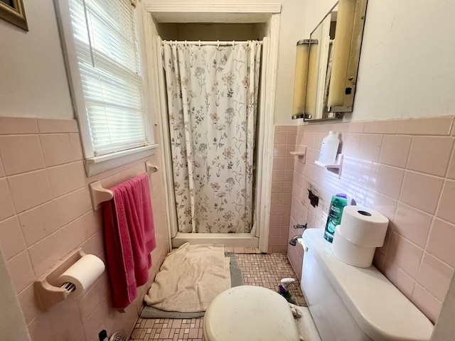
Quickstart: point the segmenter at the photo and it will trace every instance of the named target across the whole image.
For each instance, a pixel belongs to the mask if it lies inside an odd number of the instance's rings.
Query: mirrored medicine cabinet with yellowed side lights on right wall
[[[367,0],[340,0],[296,48],[292,119],[353,111]]]

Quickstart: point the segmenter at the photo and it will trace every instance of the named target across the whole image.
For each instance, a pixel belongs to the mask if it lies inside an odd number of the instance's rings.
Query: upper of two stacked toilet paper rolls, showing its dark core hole
[[[382,247],[389,220],[375,210],[363,206],[346,206],[341,217],[340,232],[350,242],[363,247]]]

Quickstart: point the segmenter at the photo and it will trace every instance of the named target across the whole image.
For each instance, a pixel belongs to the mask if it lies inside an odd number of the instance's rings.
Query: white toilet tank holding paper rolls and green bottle
[[[323,341],[429,340],[433,325],[374,266],[333,256],[323,229],[307,229],[301,289]]]

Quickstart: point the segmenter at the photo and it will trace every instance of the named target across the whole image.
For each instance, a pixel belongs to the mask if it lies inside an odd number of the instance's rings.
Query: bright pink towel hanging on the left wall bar
[[[104,205],[107,269],[114,308],[127,307],[147,283],[156,247],[149,176],[144,173],[111,188]]]

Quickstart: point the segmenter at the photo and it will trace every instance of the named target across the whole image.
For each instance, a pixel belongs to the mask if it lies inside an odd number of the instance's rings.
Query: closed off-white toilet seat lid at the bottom
[[[289,303],[260,286],[236,286],[216,296],[207,308],[203,340],[299,340]]]

